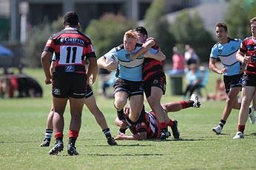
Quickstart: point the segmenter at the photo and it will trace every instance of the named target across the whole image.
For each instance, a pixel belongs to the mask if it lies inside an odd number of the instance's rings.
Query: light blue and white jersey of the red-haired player
[[[141,49],[141,45],[136,45],[135,50],[132,53],[138,52],[139,49]],[[149,49],[149,52],[154,54],[158,51],[155,49]],[[104,57],[112,57],[112,55],[118,57],[118,77],[133,82],[142,81],[142,64],[144,62],[143,55],[137,57],[135,60],[131,60],[129,57],[130,53],[124,49],[123,44],[111,49],[110,52],[104,54]]]

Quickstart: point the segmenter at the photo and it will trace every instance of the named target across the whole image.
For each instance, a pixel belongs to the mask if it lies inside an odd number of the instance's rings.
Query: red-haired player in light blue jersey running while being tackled
[[[131,107],[128,124],[135,124],[141,114],[143,107],[144,96],[142,88],[142,64],[144,57],[151,57],[156,60],[164,60],[165,56],[154,49],[150,52],[139,56],[135,60],[130,59],[130,54],[138,52],[141,45],[137,43],[138,35],[135,30],[129,30],[124,34],[124,43],[121,46],[115,47],[98,59],[98,66],[107,70],[115,70],[118,72],[118,79],[115,81],[115,101],[114,106],[118,112],[118,118],[124,120],[124,106],[129,98]],[[153,54],[155,53],[155,54]],[[110,58],[113,60],[110,63],[106,61]],[[125,132],[125,130],[120,130]]]

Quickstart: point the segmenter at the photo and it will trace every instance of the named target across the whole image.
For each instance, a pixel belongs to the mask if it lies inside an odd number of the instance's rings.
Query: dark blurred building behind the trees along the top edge
[[[122,14],[135,21],[144,18],[153,0],[0,0],[0,16],[10,18],[8,40],[22,42],[26,38],[26,26],[35,26],[47,20],[52,22],[67,11],[78,13],[81,26],[104,13]],[[194,7],[200,0],[164,0],[166,13]]]

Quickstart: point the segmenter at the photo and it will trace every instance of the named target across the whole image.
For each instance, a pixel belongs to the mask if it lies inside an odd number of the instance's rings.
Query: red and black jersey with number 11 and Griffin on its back
[[[85,59],[96,57],[90,38],[68,27],[47,40],[45,52],[54,52],[55,68],[65,71],[85,72]]]

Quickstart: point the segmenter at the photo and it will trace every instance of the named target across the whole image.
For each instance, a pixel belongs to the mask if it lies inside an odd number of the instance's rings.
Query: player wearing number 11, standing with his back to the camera
[[[53,94],[53,130],[55,146],[50,155],[58,155],[63,150],[64,110],[67,100],[70,101],[70,132],[67,152],[78,155],[75,141],[81,127],[81,114],[86,95],[87,79],[95,81],[98,66],[91,40],[79,32],[78,15],[68,12],[64,15],[64,29],[47,40],[41,54],[45,83],[52,84]],[[50,71],[50,59],[55,53],[53,74]],[[84,59],[90,63],[87,70]]]

